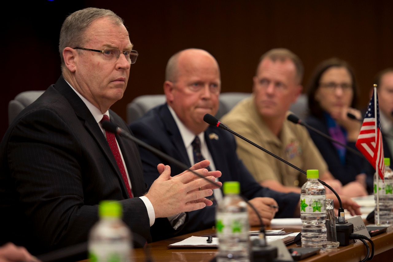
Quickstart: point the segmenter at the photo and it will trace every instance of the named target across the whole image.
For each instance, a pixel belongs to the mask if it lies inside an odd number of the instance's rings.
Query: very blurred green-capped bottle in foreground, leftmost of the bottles
[[[100,220],[90,230],[90,262],[131,262],[132,239],[129,227],[121,220],[122,207],[116,201],[101,201]]]

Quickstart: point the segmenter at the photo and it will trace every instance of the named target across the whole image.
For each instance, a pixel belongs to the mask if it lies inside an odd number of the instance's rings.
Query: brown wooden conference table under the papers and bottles
[[[270,229],[270,228],[267,228]],[[273,228],[274,229],[274,228]],[[253,228],[252,230],[257,230]],[[285,231],[299,232],[298,228],[286,228]],[[153,242],[147,245],[144,249],[134,249],[134,261],[142,262],[148,261],[146,258],[150,254],[151,261],[198,261],[198,262],[208,262],[217,255],[218,249],[172,249],[167,246],[175,242],[184,240],[189,236],[201,236],[205,234],[214,233],[213,229],[206,229],[192,234],[186,234],[183,236],[178,236],[175,238],[170,238],[167,240],[162,240],[158,242]],[[371,238],[375,244],[375,256],[372,261],[393,261],[393,231],[382,233]],[[370,249],[371,249],[371,245]],[[295,244],[288,246],[296,247]],[[304,260],[303,262],[359,262],[366,255],[366,249],[362,242],[356,244],[351,244],[346,247],[338,247],[331,251],[320,253],[319,255],[314,255]]]

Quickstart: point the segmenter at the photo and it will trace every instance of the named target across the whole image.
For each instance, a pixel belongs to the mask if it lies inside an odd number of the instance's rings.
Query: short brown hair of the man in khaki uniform
[[[269,50],[268,52],[264,53],[261,56],[261,58],[259,59],[257,71],[258,71],[259,64],[265,58],[268,58],[268,59],[272,60],[273,62],[275,62],[277,60],[285,61],[286,59],[290,59],[294,63],[295,68],[296,68],[296,78],[298,79],[299,84],[301,83],[301,81],[303,79],[304,67],[303,67],[303,63],[301,62],[300,58],[296,54],[294,54],[293,52],[291,52],[290,50],[288,50],[286,48],[274,48],[272,50]]]

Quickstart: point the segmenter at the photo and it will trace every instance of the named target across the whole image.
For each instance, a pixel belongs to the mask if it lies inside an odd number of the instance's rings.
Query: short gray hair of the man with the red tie
[[[64,67],[63,50],[66,47],[75,48],[83,45],[86,39],[85,32],[92,22],[101,17],[108,17],[114,24],[124,24],[123,19],[114,12],[107,9],[99,9],[95,7],[88,7],[78,10],[69,15],[64,20],[60,30],[59,52],[61,59],[61,66]]]

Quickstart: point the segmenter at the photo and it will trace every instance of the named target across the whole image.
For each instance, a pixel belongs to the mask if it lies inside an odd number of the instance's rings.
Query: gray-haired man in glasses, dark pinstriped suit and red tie
[[[147,191],[137,146],[102,128],[109,118],[129,131],[109,110],[138,55],[123,20],[105,9],[76,11],[62,25],[59,51],[62,76],[18,115],[0,144],[0,242],[39,254],[86,241],[99,202],[113,199],[143,245],[156,218],[211,205],[204,197],[214,186],[189,172],[169,179],[163,164]],[[208,172],[208,164],[193,168],[214,181],[220,172]]]

